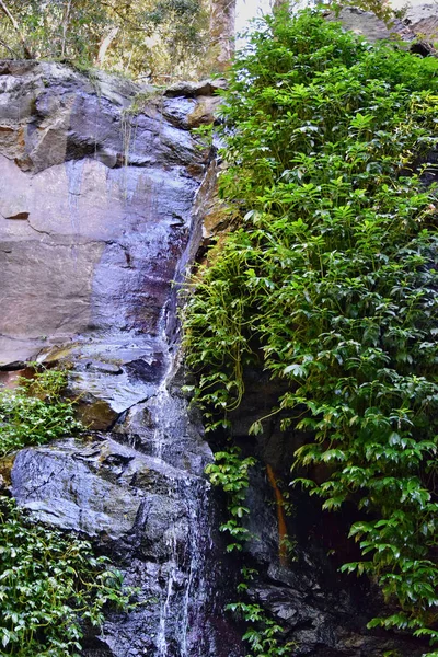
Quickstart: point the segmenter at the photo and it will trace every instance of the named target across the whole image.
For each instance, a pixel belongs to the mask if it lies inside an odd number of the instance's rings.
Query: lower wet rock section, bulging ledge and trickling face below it
[[[38,519],[92,538],[139,589],[137,610],[110,616],[85,655],[216,654],[214,632],[199,634],[215,613],[204,572],[211,545],[203,479],[94,437],[22,450],[12,489]]]

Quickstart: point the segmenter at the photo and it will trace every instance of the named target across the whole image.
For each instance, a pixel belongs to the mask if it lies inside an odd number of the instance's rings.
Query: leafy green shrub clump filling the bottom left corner
[[[0,497],[2,655],[81,654],[83,623],[99,626],[108,603],[126,607],[122,575],[90,543],[34,525]]]

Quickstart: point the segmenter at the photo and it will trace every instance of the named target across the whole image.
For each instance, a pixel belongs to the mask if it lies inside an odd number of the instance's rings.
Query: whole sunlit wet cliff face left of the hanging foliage
[[[0,62],[0,366],[68,361],[91,425],[84,440],[19,452],[11,491],[139,588],[134,611],[87,636],[87,657],[238,655],[232,631],[217,636],[211,452],[174,380],[168,316],[206,164],[188,116],[214,88],[135,116],[131,83]]]

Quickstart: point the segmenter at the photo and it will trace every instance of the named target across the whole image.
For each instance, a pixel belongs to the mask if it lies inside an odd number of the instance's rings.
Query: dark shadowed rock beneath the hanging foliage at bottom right
[[[249,449],[247,443],[242,447]],[[260,441],[257,453],[263,459],[261,448]],[[283,479],[284,473],[277,473]],[[284,564],[279,558],[274,494],[265,473],[260,468],[253,472],[246,499],[252,539],[245,552],[258,575],[249,589],[249,598],[284,627],[285,638],[296,644],[293,655],[420,657],[426,643],[422,645],[401,633],[366,629],[371,618],[385,615],[389,610],[378,588],[365,579],[339,574],[341,563],[355,560],[357,554],[350,553],[346,558],[345,554],[341,558],[339,554],[327,556],[330,549],[345,550],[348,545],[346,519],[323,515],[316,504],[310,504],[300,494],[295,494],[291,502],[293,510],[287,523],[292,543]]]

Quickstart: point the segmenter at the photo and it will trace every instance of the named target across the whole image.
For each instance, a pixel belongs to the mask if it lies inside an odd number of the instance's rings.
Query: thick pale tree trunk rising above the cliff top
[[[215,49],[216,68],[224,71],[234,53],[235,0],[211,0],[210,39]]]

